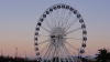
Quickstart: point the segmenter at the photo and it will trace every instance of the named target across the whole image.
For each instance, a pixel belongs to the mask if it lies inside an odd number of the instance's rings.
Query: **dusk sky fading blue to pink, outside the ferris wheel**
[[[87,27],[86,55],[110,49],[110,0],[0,0],[0,50],[3,55],[35,58],[34,32],[42,13],[65,3],[82,16]],[[1,52],[0,52],[1,54]]]

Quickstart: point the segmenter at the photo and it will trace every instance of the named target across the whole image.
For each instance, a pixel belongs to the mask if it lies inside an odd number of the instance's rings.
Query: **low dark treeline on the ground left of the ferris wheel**
[[[0,62],[38,62],[36,60],[29,60],[24,58],[12,58],[0,55]]]

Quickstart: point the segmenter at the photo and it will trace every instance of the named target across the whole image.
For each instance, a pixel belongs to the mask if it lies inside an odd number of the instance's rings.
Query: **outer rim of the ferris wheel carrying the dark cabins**
[[[58,4],[54,4],[54,6],[52,6],[52,7],[50,7],[47,10],[45,10],[44,11],[44,13],[41,16],[41,18],[38,19],[38,22],[37,22],[37,25],[36,25],[36,29],[35,29],[35,35],[36,35],[36,31],[37,31],[37,33],[38,33],[38,31],[40,31],[40,27],[42,25],[42,19],[43,18],[45,18],[45,13],[47,13],[47,11],[50,10],[50,11],[53,11],[53,10],[51,10],[52,8],[54,8],[54,7],[58,7],[58,6],[65,6],[65,7],[69,7],[69,8],[73,8],[73,7],[70,7],[70,6],[67,6],[67,4],[64,4],[64,3],[58,3]],[[68,9],[68,8],[67,8]],[[73,8],[75,11],[77,11],[75,8]],[[74,11],[73,10],[73,11]],[[82,29],[82,44],[81,44],[81,48],[79,49],[79,55],[80,54],[82,54],[85,51],[84,51],[84,49],[85,49],[85,46],[86,46],[86,41],[87,41],[87,31],[86,31],[86,25],[85,25],[85,21],[84,21],[84,19],[82,19],[82,17],[80,16],[80,13],[77,11],[77,13],[75,13],[75,14],[77,14],[77,17],[80,17],[80,23],[81,23],[81,29]],[[79,14],[79,16],[78,16]],[[41,22],[41,23],[40,23]],[[50,32],[50,31],[48,31]],[[84,34],[85,34],[85,38],[84,38]],[[36,49],[36,41],[37,41],[37,38],[34,35],[34,46],[35,46],[35,49]],[[37,53],[37,55],[38,56],[41,56],[40,55],[40,51],[38,51],[38,45],[37,45],[37,49],[36,49],[36,51],[38,52]]]

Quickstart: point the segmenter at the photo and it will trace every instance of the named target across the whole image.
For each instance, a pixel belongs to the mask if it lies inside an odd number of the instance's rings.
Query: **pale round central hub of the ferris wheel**
[[[55,46],[61,45],[61,43],[64,42],[65,37],[66,37],[65,30],[62,27],[57,27],[57,28],[53,28],[51,32],[52,32],[51,33],[52,43]]]

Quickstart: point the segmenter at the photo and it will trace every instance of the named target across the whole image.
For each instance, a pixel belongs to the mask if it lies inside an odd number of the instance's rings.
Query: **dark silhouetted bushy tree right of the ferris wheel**
[[[110,52],[108,49],[100,49],[98,50],[97,61],[108,62],[110,61]]]

